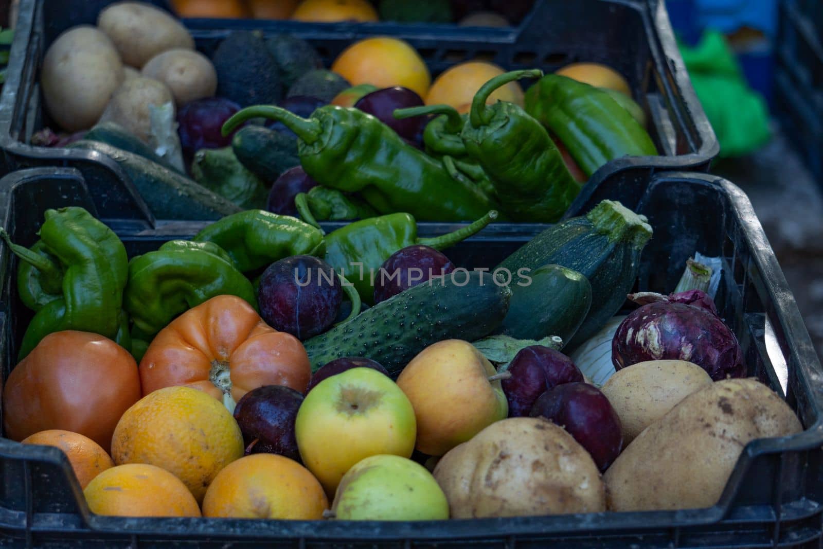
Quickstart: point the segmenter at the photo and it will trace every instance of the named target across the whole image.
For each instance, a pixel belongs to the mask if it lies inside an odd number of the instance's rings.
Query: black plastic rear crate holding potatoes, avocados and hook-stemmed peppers
[[[45,50],[67,21],[65,0],[21,0],[7,84],[0,96],[0,148],[8,169],[71,166],[81,170],[100,208],[117,218],[149,219],[151,213],[114,161],[96,152],[32,147],[31,134],[49,123],[38,86]],[[163,0],[156,0],[156,3]],[[100,5],[104,2],[92,2]],[[78,21],[88,21],[83,12]],[[453,25],[396,23],[302,23],[298,21],[185,20],[198,44],[210,54],[233,29],[265,34],[290,32],[316,46],[328,64],[342,49],[374,35],[407,40],[425,58],[433,75],[468,59],[502,67],[545,71],[574,61],[605,63],[630,82],[635,100],[649,114],[650,133],[663,156],[626,157],[593,174],[574,214],[591,197],[608,193],[634,205],[639,188],[660,170],[709,170],[718,142],[691,87],[668,16],[659,0],[537,0],[516,27],[489,29]]]

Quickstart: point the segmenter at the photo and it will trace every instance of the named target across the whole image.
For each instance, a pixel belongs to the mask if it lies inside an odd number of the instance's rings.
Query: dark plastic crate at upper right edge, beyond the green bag
[[[781,0],[774,107],[794,147],[823,185],[823,6]]]

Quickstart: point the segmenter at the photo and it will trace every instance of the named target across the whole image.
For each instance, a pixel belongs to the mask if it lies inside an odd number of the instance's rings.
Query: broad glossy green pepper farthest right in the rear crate
[[[525,109],[551,130],[589,177],[621,156],[656,156],[649,133],[606,91],[547,74],[526,92]]]

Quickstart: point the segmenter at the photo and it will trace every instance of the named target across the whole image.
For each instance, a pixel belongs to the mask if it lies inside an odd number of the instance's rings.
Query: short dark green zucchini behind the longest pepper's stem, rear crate
[[[231,139],[235,156],[250,172],[267,184],[280,174],[300,165],[297,139],[264,126],[246,126]]]

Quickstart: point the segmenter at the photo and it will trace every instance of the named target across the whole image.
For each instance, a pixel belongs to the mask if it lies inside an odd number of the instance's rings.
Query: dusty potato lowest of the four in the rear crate
[[[163,82],[151,78],[137,77],[123,82],[114,92],[109,105],[106,106],[100,122],[116,122],[130,133],[149,140],[151,119],[149,105],[174,105],[174,96]]]

